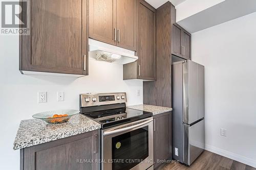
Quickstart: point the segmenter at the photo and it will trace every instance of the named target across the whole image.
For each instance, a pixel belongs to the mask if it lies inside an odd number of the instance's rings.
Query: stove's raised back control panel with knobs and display
[[[126,93],[86,93],[80,94],[80,107],[126,103]]]

